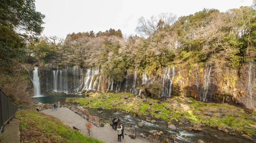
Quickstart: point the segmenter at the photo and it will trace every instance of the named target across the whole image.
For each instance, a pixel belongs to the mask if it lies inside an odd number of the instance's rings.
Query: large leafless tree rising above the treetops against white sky
[[[136,32],[143,36],[152,37],[155,31],[163,29],[166,25],[175,23],[177,16],[172,13],[161,13],[158,16],[151,16],[150,19],[145,20],[144,17],[138,19],[138,26]]]

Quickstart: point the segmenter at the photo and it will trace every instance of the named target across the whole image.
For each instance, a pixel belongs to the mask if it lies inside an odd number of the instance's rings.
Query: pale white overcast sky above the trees
[[[204,8],[221,12],[250,6],[253,0],[36,0],[36,10],[45,14],[43,35],[66,37],[69,33],[120,29],[135,35],[137,20],[170,12],[178,17]]]

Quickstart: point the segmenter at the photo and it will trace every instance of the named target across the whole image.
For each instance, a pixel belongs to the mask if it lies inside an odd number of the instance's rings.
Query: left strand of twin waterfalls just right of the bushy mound
[[[170,67],[166,68],[162,74],[163,88],[162,96],[169,96]]]

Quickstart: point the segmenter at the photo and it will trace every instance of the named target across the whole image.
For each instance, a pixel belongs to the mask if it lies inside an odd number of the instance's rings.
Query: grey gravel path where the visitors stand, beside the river
[[[80,115],[76,114],[74,111],[70,110],[67,107],[60,107],[58,110],[47,109],[42,110],[41,112],[53,115],[59,118],[64,124],[69,125],[71,128],[76,127],[81,129],[81,133],[88,136],[88,131],[85,127],[86,119],[82,118]],[[98,124],[99,125],[99,124]],[[131,134],[128,131],[124,131],[124,139],[122,138],[121,142],[123,143],[149,143],[149,141],[142,138],[136,137],[136,139],[131,139],[128,137]],[[93,126],[90,132],[92,138],[101,140],[106,143],[115,143],[117,141],[117,131],[114,131],[111,126],[105,125],[104,127]]]

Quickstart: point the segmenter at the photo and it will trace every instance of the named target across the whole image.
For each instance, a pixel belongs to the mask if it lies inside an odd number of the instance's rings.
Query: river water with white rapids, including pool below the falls
[[[38,97],[34,98],[35,101],[37,102],[42,102],[42,103],[48,103],[48,104],[53,104],[57,103],[57,101],[60,101],[61,103],[65,103],[66,98],[68,97],[80,97],[80,98],[87,98],[85,96],[81,95],[55,95],[55,96],[43,96],[43,97]],[[171,131],[170,129],[167,128],[167,122],[164,120],[157,120],[156,123],[150,123],[146,121],[146,117],[150,117],[151,120],[154,118],[151,116],[133,116],[133,114],[127,114],[127,113],[121,113],[121,111],[118,111],[116,109],[101,109],[100,111],[103,111],[103,113],[98,113],[98,109],[92,109],[88,108],[88,111],[90,114],[97,115],[103,120],[109,120],[111,121],[114,116],[117,116],[120,118],[121,122],[123,122],[126,126],[131,125],[131,128],[140,128],[142,130],[150,131],[150,130],[158,130],[162,131],[163,135],[170,136],[170,135],[176,135],[177,139],[180,140],[185,140],[189,142],[196,142],[197,140],[201,139],[205,142],[212,142],[212,143],[250,143],[250,142],[255,142],[256,137],[253,136],[252,139],[254,141],[246,140],[244,139],[241,135],[242,133],[240,132],[235,132],[236,136],[230,135],[228,133],[225,133],[223,131],[217,130],[217,128],[211,128],[209,126],[202,126],[203,131],[191,131],[188,132],[184,130],[185,126],[190,126],[188,125],[179,125],[179,121],[172,121],[172,124],[174,124],[177,127],[176,131]],[[143,122],[144,126],[143,127],[138,127],[138,123]],[[214,137],[214,135],[216,135]],[[183,137],[186,136],[187,138]]]

